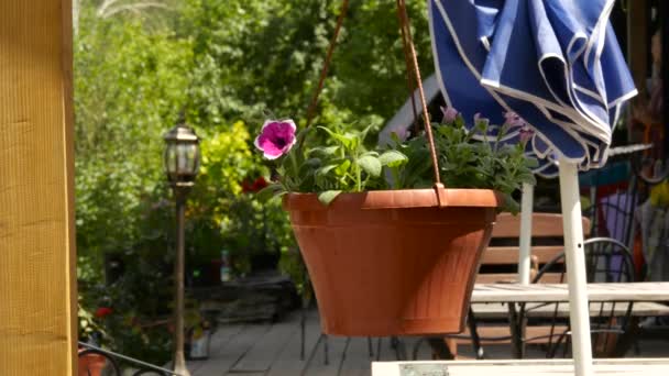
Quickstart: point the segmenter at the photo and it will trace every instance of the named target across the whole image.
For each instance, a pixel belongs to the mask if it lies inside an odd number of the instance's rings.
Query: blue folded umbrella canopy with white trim
[[[636,95],[608,22],[613,0],[428,1],[448,106],[498,124],[517,113],[535,130],[528,152],[544,161],[542,175],[557,174],[557,159],[583,170],[606,163],[621,109]]]

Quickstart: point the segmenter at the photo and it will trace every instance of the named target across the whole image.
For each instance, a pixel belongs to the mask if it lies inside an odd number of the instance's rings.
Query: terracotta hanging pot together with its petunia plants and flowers
[[[262,193],[283,196],[325,333],[462,331],[496,211],[517,208],[511,195],[534,181],[534,162],[523,143],[502,142],[517,124],[478,142],[487,121],[468,131],[453,111],[377,150],[364,146],[366,130],[263,125],[255,145],[278,163],[278,178]]]

